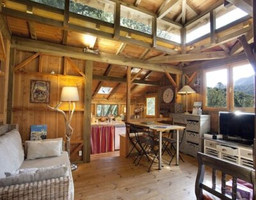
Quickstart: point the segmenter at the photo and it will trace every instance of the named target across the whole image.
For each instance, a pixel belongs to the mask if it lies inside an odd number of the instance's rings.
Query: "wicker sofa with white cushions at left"
[[[13,131],[15,129],[17,131]],[[65,176],[0,187],[0,199],[74,199],[74,183],[67,152],[56,157],[25,160],[18,125],[0,125],[0,178],[2,182],[6,178],[5,172],[60,165],[68,168],[66,168]]]

